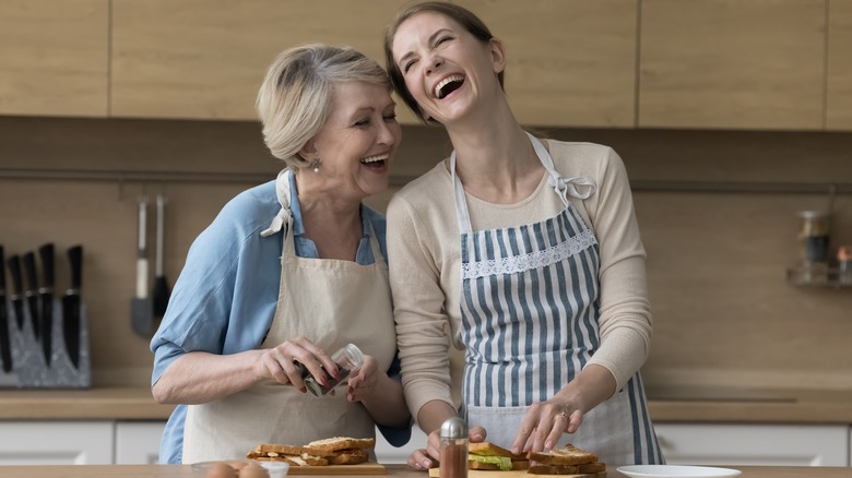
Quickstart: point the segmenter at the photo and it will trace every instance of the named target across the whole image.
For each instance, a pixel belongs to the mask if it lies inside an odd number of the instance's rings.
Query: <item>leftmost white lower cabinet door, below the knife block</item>
[[[0,422],[0,465],[111,463],[111,421]]]

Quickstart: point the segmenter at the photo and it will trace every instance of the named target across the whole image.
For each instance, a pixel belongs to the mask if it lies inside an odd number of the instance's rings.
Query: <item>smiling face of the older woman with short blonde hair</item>
[[[402,140],[395,105],[383,85],[336,82],[332,109],[320,132],[301,151],[319,158],[319,171],[300,170],[304,192],[322,191],[347,201],[384,191],[390,162]],[[300,193],[303,189],[300,189]]]

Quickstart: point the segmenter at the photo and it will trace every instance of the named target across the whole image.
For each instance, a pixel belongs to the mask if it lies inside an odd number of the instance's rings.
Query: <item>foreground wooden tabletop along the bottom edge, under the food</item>
[[[427,478],[425,471],[415,471],[404,465],[388,465],[391,478]],[[841,467],[801,467],[801,466],[737,466],[742,478],[849,478],[850,468]],[[323,477],[329,475],[311,475]],[[344,475],[338,475],[341,478]],[[620,478],[625,475],[613,469],[606,471],[607,478]],[[15,478],[193,478],[189,465],[32,465],[0,466],[0,477]]]

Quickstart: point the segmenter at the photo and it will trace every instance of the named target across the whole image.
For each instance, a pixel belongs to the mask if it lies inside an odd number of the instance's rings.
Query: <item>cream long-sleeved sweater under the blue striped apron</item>
[[[589,363],[610,370],[620,390],[648,357],[652,333],[646,254],[627,172],[610,147],[552,140],[545,145],[564,178],[587,176],[597,184],[589,199],[569,199],[594,231],[601,250],[601,347]],[[439,163],[405,186],[388,206],[390,283],[402,383],[415,417],[430,401],[453,404],[448,347],[452,342],[464,348],[459,342],[460,238],[448,164]],[[473,230],[539,223],[564,207],[547,186],[546,174],[535,192],[517,204],[466,198]]]

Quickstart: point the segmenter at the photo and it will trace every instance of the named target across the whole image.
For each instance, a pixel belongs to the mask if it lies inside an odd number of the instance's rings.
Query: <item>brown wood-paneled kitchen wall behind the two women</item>
[[[554,130],[607,144],[636,181],[852,183],[852,134],[671,130]],[[439,129],[406,127],[394,175],[428,170],[449,151]],[[0,169],[198,171],[274,178],[279,163],[251,122],[0,118]],[[0,178],[7,255],[55,241],[85,247],[96,385],[144,386],[149,340],[130,328],[137,200],[168,196],[166,273],[180,273],[194,237],[248,181]],[[370,200],[379,208],[392,191]],[[796,212],[827,194],[636,191],[648,250],[655,335],[650,383],[852,387],[852,288],[785,282],[797,258]],[[852,243],[852,196],[835,202],[832,246]],[[153,220],[151,223],[153,225]],[[153,227],[151,228],[153,239]],[[151,242],[153,243],[153,242]],[[153,259],[153,251],[151,258]],[[58,288],[67,285],[64,261]]]

